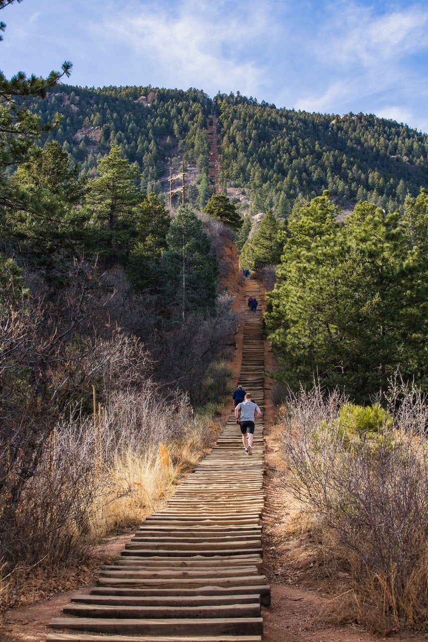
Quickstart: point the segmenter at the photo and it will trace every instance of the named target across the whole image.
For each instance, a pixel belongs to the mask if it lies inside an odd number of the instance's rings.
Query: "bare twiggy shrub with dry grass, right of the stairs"
[[[347,399],[319,386],[290,394],[282,412],[284,483],[329,533],[330,558],[350,569],[352,617],[382,632],[428,614],[425,413],[413,389],[389,396],[400,408],[378,433],[343,430],[337,415]]]

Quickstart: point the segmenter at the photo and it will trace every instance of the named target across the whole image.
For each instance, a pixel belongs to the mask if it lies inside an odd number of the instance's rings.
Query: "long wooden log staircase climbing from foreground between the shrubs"
[[[254,281],[245,287],[246,297],[260,300]],[[261,311],[246,308],[245,317],[239,383],[263,410]],[[262,575],[262,417],[248,456],[230,414],[210,455],[163,510],[146,517],[121,559],[101,569],[98,586],[51,621],[47,642],[261,641],[261,604],[270,604]]]

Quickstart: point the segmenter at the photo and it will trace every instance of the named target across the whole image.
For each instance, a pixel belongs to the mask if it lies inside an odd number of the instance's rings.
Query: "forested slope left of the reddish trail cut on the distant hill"
[[[66,147],[81,163],[83,174],[94,171],[99,155],[119,146],[124,158],[138,164],[142,187],[156,192],[159,180],[167,186],[165,168],[171,162],[175,166],[178,156],[185,163],[196,163],[208,179],[206,123],[210,105],[208,96],[196,89],[62,85],[47,101],[37,103],[35,112],[47,121],[61,111],[64,119],[48,139],[55,137]],[[77,132],[80,135],[76,136]]]

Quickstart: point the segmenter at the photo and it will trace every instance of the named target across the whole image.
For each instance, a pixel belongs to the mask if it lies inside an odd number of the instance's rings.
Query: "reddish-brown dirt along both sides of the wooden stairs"
[[[225,250],[230,265],[236,265],[224,283],[228,291],[235,294],[235,311],[244,311],[244,282],[239,277],[234,244]],[[253,274],[252,278],[257,278]],[[264,288],[259,281],[262,294]],[[262,309],[265,302],[262,300]],[[231,345],[230,367],[234,379],[241,368],[243,322]],[[275,369],[275,360],[265,343],[266,369]],[[234,383],[234,381],[233,381]],[[377,642],[387,639],[374,636],[356,625],[334,625],[331,623],[329,606],[332,600],[349,588],[346,573],[340,571],[336,577],[322,577],[317,564],[316,549],[310,539],[302,537],[294,521],[293,500],[286,496],[277,474],[279,465],[279,435],[275,429],[275,408],[270,401],[272,381],[265,381],[265,445],[266,445],[266,507],[263,516],[264,529],[264,572],[271,584],[271,606],[263,607],[264,642]],[[230,412],[230,399],[225,403],[225,416]],[[47,599],[29,605],[17,605],[6,614],[0,627],[1,642],[42,642],[48,632],[47,623],[62,613],[62,608],[71,598],[87,593],[96,582],[96,568],[119,555],[132,532],[116,535],[98,547],[85,573],[75,573],[68,578],[69,591],[51,594]],[[82,577],[84,583],[82,583]],[[42,588],[33,588],[33,598],[40,598]],[[24,599],[31,599],[26,593]],[[395,632],[388,636],[394,642],[415,642],[426,639],[425,634]]]

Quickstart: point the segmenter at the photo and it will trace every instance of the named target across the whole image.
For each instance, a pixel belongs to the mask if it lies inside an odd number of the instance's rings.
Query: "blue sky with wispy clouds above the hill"
[[[23,0],[0,19],[8,77],[71,60],[73,85],[239,90],[428,132],[426,0]]]

